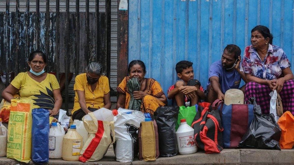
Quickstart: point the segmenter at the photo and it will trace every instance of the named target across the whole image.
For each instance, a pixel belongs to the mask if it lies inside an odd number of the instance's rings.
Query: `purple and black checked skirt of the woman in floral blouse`
[[[245,88],[245,103],[250,97],[256,98],[256,103],[260,105],[263,114],[270,113],[271,89],[264,84],[249,82]],[[294,115],[294,80],[288,80],[284,83],[283,89],[280,91],[284,112],[290,111]]]

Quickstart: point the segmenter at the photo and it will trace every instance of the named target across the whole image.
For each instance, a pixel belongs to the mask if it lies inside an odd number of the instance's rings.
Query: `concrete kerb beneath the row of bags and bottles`
[[[0,157],[0,164],[16,165],[26,164],[17,160]],[[28,164],[36,164],[30,161]],[[97,162],[82,163],[79,161],[65,161],[50,159],[48,163],[59,164],[294,164],[294,149],[291,150],[261,150],[261,149],[224,149],[219,154],[205,154],[203,151],[195,154],[177,155],[174,157],[159,157],[156,161],[140,161],[136,158],[133,162],[120,163],[115,161],[112,147],[107,154]]]

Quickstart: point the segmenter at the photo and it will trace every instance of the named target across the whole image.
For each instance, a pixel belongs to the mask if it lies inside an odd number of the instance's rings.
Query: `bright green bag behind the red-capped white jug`
[[[192,125],[192,122],[195,118],[196,112],[197,112],[198,105],[194,105],[191,107],[185,107],[180,106],[179,115],[178,115],[178,121],[176,123],[176,130],[179,128],[179,125],[181,123],[181,119],[186,119],[186,122],[189,126]]]

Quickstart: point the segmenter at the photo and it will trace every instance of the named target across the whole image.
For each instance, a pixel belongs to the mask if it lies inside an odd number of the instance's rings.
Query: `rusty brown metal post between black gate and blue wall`
[[[118,0],[119,2],[120,0]],[[128,10],[118,10],[117,21],[117,83],[119,84],[127,75],[128,66]]]

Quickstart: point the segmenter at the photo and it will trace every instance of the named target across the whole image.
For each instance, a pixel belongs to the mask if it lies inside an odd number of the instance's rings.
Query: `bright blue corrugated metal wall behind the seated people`
[[[142,60],[145,77],[164,93],[177,80],[176,63],[189,60],[206,87],[209,66],[224,47],[236,44],[243,52],[251,29],[264,25],[293,66],[293,17],[293,0],[130,0],[128,60]]]

